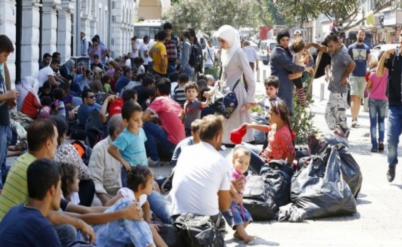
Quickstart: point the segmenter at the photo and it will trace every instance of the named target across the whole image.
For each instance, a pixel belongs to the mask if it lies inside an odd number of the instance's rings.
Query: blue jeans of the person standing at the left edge
[[[8,147],[13,139],[13,133],[10,125],[0,125],[0,188],[3,188],[3,183],[7,177],[7,152]]]

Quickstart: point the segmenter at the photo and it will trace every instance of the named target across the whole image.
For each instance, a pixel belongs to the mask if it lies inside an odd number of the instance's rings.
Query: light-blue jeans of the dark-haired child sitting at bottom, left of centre
[[[133,201],[121,198],[113,206],[105,210],[105,213],[116,212],[125,209]],[[148,246],[154,244],[151,229],[145,221],[133,221],[131,219],[118,219],[100,225],[92,226],[96,235],[94,244],[104,247]],[[78,239],[83,240],[78,232]]]

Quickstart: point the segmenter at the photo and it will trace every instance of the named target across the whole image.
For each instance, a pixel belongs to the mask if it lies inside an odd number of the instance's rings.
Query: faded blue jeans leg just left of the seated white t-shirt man
[[[151,195],[148,196],[148,202],[151,211],[164,223],[173,224],[171,221],[171,203],[167,201],[160,193],[152,190]]]

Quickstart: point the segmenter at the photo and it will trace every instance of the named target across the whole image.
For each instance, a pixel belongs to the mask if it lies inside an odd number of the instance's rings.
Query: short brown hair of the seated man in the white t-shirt
[[[220,132],[223,132],[222,116],[205,116],[199,125],[199,139],[203,142],[212,141]]]

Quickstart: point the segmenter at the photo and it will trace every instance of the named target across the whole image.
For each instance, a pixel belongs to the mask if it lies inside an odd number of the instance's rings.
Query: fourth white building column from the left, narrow
[[[71,57],[71,13],[74,13],[74,9],[75,3],[65,1],[62,4],[62,10],[59,10],[57,51],[62,55],[63,63]]]

